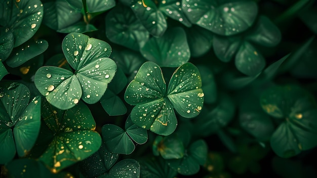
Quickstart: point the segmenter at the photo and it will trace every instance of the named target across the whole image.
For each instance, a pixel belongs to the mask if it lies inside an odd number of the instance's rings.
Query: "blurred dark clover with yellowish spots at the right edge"
[[[317,146],[317,106],[313,96],[298,86],[273,86],[260,98],[262,109],[283,122],[270,143],[281,157],[292,157]]]

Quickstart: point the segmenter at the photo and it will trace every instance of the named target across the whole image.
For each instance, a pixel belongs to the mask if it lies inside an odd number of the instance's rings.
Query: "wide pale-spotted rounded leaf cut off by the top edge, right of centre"
[[[252,1],[182,0],[191,23],[220,35],[233,35],[248,29],[255,21],[258,7]]]

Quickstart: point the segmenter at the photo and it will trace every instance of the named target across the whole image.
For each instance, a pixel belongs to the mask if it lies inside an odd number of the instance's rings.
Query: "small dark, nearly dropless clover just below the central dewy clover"
[[[113,124],[102,126],[102,137],[107,150],[111,153],[129,155],[135,149],[133,141],[144,144],[147,140],[147,132],[146,129],[133,124],[129,116],[125,130]]]

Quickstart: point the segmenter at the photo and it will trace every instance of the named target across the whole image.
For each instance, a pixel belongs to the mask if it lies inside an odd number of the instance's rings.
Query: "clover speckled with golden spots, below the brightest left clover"
[[[42,105],[44,122],[51,130],[51,143],[38,159],[52,172],[70,166],[94,154],[101,145],[95,132],[95,120],[83,102],[69,110],[59,110],[47,101]]]

